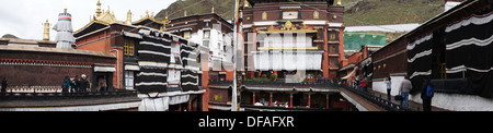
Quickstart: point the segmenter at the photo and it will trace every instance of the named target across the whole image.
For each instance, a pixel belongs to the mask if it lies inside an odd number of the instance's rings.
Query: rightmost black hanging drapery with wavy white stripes
[[[493,12],[449,24],[446,36],[448,78],[467,78],[473,94],[493,96]]]

